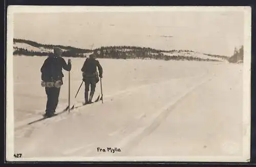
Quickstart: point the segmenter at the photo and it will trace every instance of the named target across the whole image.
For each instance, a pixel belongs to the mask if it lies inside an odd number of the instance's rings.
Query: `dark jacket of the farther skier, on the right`
[[[81,71],[87,74],[93,74],[97,71],[97,67],[99,70],[99,76],[102,76],[103,70],[99,61],[93,58],[87,58],[83,63]]]

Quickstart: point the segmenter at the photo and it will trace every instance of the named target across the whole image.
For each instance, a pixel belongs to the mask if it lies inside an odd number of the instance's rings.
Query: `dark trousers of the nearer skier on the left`
[[[46,94],[47,94],[46,113],[55,112],[55,109],[58,105],[59,91],[60,91],[60,88],[46,87]]]

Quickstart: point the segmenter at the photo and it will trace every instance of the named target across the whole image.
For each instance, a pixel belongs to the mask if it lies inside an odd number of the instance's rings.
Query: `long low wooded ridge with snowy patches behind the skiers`
[[[31,40],[13,39],[13,55],[47,56],[58,46],[63,51],[63,57],[88,57],[95,53],[98,58],[113,59],[162,59],[188,61],[228,61],[229,57],[221,55],[202,54],[189,50],[157,50],[139,46],[102,46],[94,50],[81,49],[72,46],[42,44]]]

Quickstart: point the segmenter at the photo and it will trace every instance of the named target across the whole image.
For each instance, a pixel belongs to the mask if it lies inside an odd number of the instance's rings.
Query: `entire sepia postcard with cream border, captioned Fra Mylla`
[[[7,161],[250,161],[250,7],[7,12]]]

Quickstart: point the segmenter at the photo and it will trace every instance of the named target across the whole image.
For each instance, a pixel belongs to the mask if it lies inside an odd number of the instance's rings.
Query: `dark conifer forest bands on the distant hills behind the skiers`
[[[162,60],[195,60],[195,61],[219,61],[214,59],[202,59],[193,56],[166,56],[164,53],[180,53],[180,52],[193,52],[189,50],[157,50],[150,47],[140,47],[140,46],[101,46],[94,50],[89,49],[77,49],[71,46],[63,45],[52,45],[52,44],[40,44],[37,42],[14,39],[15,42],[27,43],[35,47],[44,47],[44,49],[53,49],[53,47],[58,46],[63,49],[63,57],[86,57],[88,53],[94,53],[98,58],[112,58],[112,59],[162,59]],[[35,52],[29,51],[23,48],[14,48],[13,55],[27,55],[27,56],[47,56],[52,53],[47,53],[44,51]],[[218,55],[216,55],[218,56]]]

